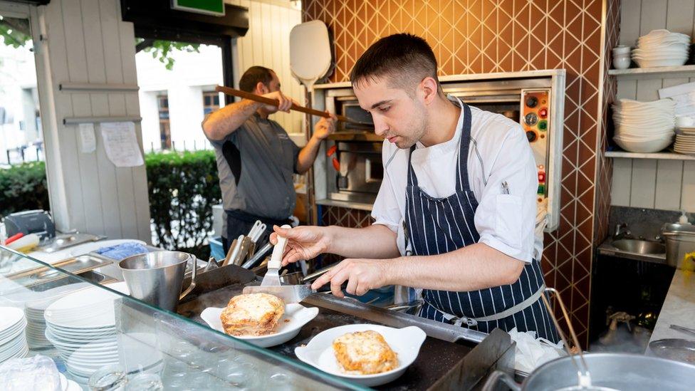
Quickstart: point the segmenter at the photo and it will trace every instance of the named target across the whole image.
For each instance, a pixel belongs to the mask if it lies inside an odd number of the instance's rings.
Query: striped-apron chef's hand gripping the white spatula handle
[[[291,262],[313,259],[328,251],[330,237],[326,234],[325,226],[297,226],[291,229],[273,226],[271,243],[278,243],[278,235],[287,238],[287,246],[283,255],[283,266]]]

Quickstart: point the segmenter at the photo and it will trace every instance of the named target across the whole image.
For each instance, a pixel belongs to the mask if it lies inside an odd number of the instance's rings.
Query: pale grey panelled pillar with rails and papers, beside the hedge
[[[40,85],[41,93],[56,107],[55,118],[43,118],[44,137],[51,143],[46,153],[49,191],[52,204],[67,206],[56,213],[58,228],[150,242],[145,167],[115,167],[105,155],[98,125],[97,150],[80,152],[78,126],[62,124],[66,117],[138,115],[137,93],[58,89],[61,83],[137,84],[132,24],[121,21],[117,0],[53,0],[38,7],[37,17],[48,37],[38,51],[46,73],[41,77],[51,84]],[[136,130],[142,143],[140,125]]]

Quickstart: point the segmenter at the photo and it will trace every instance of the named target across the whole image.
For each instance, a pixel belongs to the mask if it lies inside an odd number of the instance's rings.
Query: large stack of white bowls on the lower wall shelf
[[[613,140],[629,152],[658,152],[671,145],[675,103],[670,99],[638,102],[619,99],[613,104]]]

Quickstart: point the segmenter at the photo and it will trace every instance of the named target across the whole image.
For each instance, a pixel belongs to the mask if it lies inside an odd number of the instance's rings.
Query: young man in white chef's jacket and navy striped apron
[[[374,43],[350,80],[386,139],[375,223],[275,227],[288,238],[283,263],[338,254],[348,259],[313,288],[330,282],[336,296],[344,281],[356,295],[390,284],[422,289],[425,318],[558,341],[540,298],[538,177],[520,125],[444,95],[432,48],[410,34]]]

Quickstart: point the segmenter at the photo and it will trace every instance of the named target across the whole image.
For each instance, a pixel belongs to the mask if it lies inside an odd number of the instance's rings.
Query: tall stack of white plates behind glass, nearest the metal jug
[[[109,288],[128,293],[125,282]],[[92,287],[59,298],[46,307],[46,340],[58,349],[68,372],[85,380],[104,365],[118,363],[114,301],[120,298]]]

